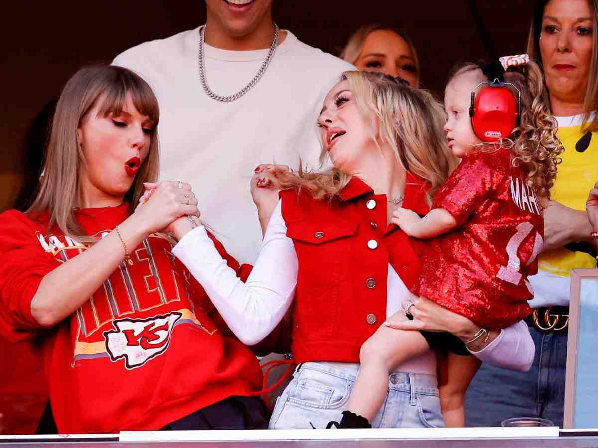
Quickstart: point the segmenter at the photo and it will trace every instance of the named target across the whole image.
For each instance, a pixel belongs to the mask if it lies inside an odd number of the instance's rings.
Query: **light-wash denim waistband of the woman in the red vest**
[[[318,372],[334,375],[349,381],[355,381],[359,372],[359,364],[337,363],[322,361],[318,363],[303,363],[297,366],[300,369],[317,370]],[[426,373],[391,372],[388,378],[389,389],[398,389],[411,392],[438,393],[438,379],[436,375]]]

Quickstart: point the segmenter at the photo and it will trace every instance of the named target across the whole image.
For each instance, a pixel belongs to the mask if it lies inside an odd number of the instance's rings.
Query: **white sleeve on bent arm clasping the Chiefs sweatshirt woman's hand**
[[[199,227],[175,246],[233,333],[255,345],[276,327],[291,305],[297,284],[297,254],[286,236],[280,201],[268,224],[260,254],[247,280],[227,265],[206,229]]]

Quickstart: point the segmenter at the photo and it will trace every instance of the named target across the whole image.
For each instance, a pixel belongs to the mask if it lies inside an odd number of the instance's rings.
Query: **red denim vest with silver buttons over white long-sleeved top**
[[[420,177],[407,173],[403,207],[428,212]],[[331,201],[280,192],[286,235],[298,259],[292,329],[296,363],[359,362],[359,349],[386,319],[388,263],[410,288],[421,263],[412,241],[386,226],[386,195],[357,177]]]

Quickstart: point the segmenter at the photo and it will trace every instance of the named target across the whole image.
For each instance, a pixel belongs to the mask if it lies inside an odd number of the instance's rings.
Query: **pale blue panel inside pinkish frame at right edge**
[[[598,426],[598,278],[582,278],[575,372],[575,428]]]

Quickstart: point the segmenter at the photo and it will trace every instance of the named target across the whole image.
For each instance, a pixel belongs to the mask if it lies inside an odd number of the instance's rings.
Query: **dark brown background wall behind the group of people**
[[[23,0],[3,9],[0,211],[35,182],[44,139],[28,130],[75,70],[197,27],[206,17],[202,0]],[[532,0],[274,0],[274,20],[281,28],[332,54],[361,24],[401,27],[419,53],[423,85],[439,94],[457,61],[487,57],[492,48],[499,56],[524,53],[532,10]],[[38,149],[30,152],[32,147]]]

